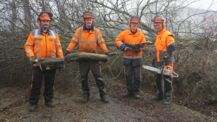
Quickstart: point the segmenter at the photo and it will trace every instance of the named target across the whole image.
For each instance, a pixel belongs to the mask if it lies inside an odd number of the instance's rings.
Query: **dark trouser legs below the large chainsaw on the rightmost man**
[[[163,78],[163,79],[162,79]],[[170,76],[157,75],[156,85],[158,90],[158,97],[168,98],[172,95],[172,78]]]

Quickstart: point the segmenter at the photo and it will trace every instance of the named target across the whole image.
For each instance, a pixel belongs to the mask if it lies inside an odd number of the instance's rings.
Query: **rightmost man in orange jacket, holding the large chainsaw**
[[[162,16],[155,16],[152,22],[157,32],[157,37],[155,40],[155,59],[153,65],[156,67],[173,70],[173,65],[175,61],[174,36],[171,32],[167,31],[165,26],[165,19]],[[158,92],[157,95],[154,96],[152,99],[156,101],[163,100],[163,103],[165,105],[170,105],[172,99],[172,77],[157,75],[156,85]]]

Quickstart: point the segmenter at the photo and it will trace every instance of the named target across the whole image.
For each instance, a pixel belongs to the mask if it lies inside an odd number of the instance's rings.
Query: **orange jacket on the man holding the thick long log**
[[[84,30],[83,27],[76,29],[66,50],[72,52],[76,45],[79,52],[98,53],[98,49],[101,48],[103,53],[108,53],[102,33],[96,27],[90,31]]]

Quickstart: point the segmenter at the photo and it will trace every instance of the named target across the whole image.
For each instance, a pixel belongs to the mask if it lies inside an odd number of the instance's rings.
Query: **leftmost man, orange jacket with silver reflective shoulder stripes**
[[[39,29],[33,30],[24,45],[24,50],[33,64],[33,81],[29,98],[29,111],[37,109],[42,79],[45,79],[44,100],[47,107],[53,105],[53,87],[56,69],[42,70],[34,63],[37,59],[64,58],[59,36],[50,29],[52,13],[42,11],[38,16]]]

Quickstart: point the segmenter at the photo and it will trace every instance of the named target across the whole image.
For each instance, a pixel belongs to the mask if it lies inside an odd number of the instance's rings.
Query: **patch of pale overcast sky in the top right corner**
[[[195,0],[190,7],[201,8],[201,9],[211,9],[217,11],[217,0]]]

